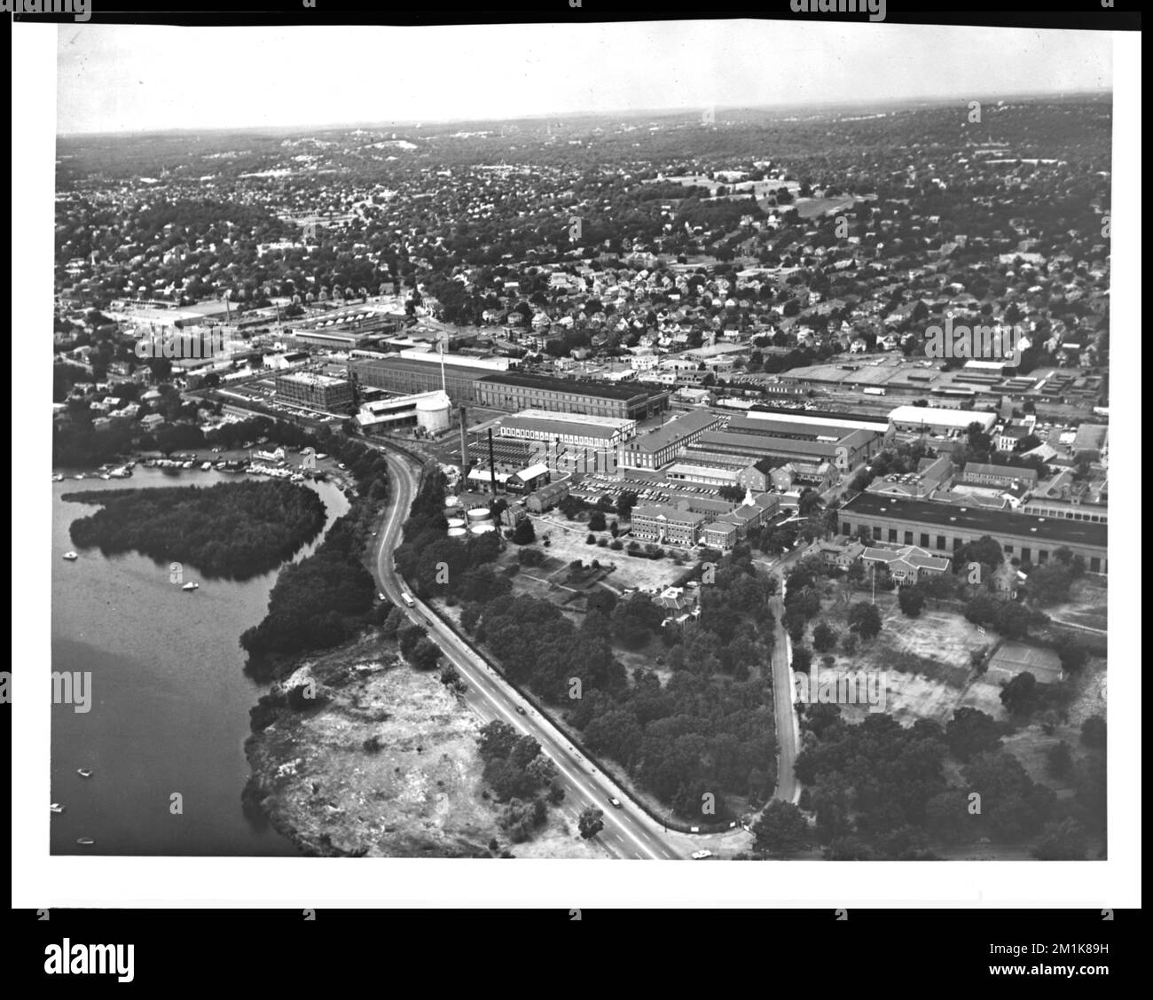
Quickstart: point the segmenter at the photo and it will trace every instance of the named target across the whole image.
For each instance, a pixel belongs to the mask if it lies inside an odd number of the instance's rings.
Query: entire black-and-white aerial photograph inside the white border
[[[1100,35],[61,24],[51,854],[1107,859]]]

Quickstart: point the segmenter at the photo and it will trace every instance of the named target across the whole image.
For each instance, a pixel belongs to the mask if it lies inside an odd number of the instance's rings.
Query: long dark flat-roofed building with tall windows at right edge
[[[962,545],[988,535],[1000,543],[1007,559],[1040,565],[1056,550],[1068,548],[1085,560],[1090,573],[1108,571],[1108,530],[1103,524],[867,492],[849,500],[837,517],[842,535],[864,531],[874,541],[915,545],[934,554],[951,555]]]

